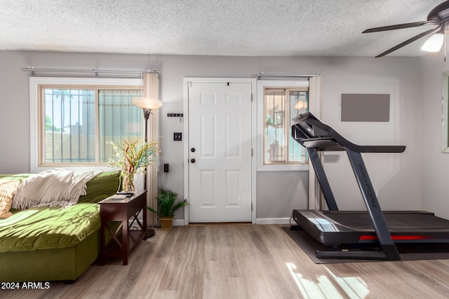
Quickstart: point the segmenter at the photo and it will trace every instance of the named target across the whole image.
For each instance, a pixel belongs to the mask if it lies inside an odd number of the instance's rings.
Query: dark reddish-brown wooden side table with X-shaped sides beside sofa
[[[128,256],[138,246],[140,241],[147,239],[147,191],[121,200],[107,197],[100,204],[100,264],[105,265],[106,258],[121,258],[123,265],[128,265]],[[138,219],[142,211],[143,221]],[[131,221],[129,221],[131,219]],[[114,230],[112,222],[120,222]],[[138,230],[131,229],[135,225]],[[106,244],[106,232],[112,239]]]

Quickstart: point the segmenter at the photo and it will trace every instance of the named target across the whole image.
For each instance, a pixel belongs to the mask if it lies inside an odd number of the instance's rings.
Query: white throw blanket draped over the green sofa
[[[20,183],[11,207],[69,207],[76,204],[81,195],[86,195],[86,183],[100,171],[70,172],[51,169],[29,176]]]

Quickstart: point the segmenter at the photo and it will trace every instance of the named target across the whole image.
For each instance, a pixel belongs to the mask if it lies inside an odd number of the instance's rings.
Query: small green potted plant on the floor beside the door
[[[173,218],[175,217],[175,211],[182,207],[185,207],[187,200],[177,200],[177,194],[171,190],[161,188],[159,195],[156,197],[158,211],[147,207],[149,211],[156,213],[161,222],[161,230],[171,230],[173,228]]]

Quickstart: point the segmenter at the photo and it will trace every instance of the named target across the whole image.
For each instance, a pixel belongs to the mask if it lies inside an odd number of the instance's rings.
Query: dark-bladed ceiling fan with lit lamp
[[[422,50],[426,50],[429,46],[431,46],[432,43],[436,43],[437,50],[434,50],[435,48],[432,48],[431,50],[428,50],[430,52],[438,52],[443,45],[444,40],[444,33],[445,33],[445,24],[449,20],[449,1],[444,1],[442,4],[438,4],[438,6],[435,6],[434,9],[432,9],[427,15],[427,20],[422,22],[412,22],[412,23],[405,23],[405,24],[398,24],[398,25],[390,25],[390,26],[384,26],[384,27],[376,27],[376,28],[370,28],[366,29],[362,33],[370,33],[370,32],[382,32],[382,31],[388,31],[388,30],[395,30],[395,29],[404,29],[404,28],[410,28],[410,27],[420,27],[422,25],[437,25],[434,29],[429,29],[425,32],[422,32],[420,34],[417,34],[416,36],[413,36],[411,39],[408,39],[407,41],[404,41],[402,43],[399,43],[398,45],[394,46],[393,48],[390,48],[389,50],[386,50],[385,52],[377,55],[376,57],[382,57],[384,55],[387,55],[391,52],[394,52],[398,50],[399,48],[402,48],[403,46],[408,45],[409,43],[413,43],[413,41],[417,41],[418,39],[421,39],[424,36],[427,36],[428,34],[433,34],[422,46]]]

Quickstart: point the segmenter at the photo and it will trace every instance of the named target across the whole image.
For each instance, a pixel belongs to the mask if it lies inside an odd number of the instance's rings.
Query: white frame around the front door
[[[256,170],[257,170],[257,79],[255,78],[215,78],[215,77],[184,77],[184,196],[189,200],[189,83],[250,83],[253,94],[251,104],[251,222],[256,219]],[[184,225],[189,225],[189,205],[184,207]]]

